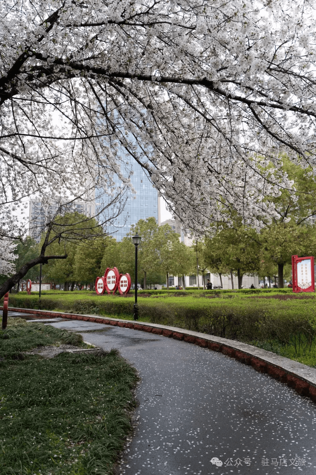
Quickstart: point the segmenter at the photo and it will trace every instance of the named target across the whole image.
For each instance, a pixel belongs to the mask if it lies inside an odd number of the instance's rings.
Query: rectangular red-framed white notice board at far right
[[[315,292],[314,257],[292,256],[293,292]]]

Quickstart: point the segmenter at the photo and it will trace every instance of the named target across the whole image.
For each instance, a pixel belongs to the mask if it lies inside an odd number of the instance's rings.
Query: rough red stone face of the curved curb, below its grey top
[[[0,307],[2,310],[2,307]],[[257,358],[252,356],[246,352],[243,352],[239,349],[234,348],[234,342],[232,341],[231,346],[226,346],[221,343],[211,342],[209,339],[198,338],[196,336],[186,334],[184,329],[179,328],[179,332],[174,332],[172,330],[168,330],[164,327],[164,325],[146,325],[144,323],[134,323],[128,322],[126,320],[112,320],[108,318],[98,318],[92,317],[90,315],[78,315],[78,314],[63,314],[61,312],[48,312],[45,310],[30,310],[30,309],[22,309],[22,308],[9,308],[10,312],[21,312],[24,314],[33,314],[39,318],[47,318],[47,317],[61,317],[67,318],[71,320],[83,320],[84,322],[93,322],[93,323],[104,323],[106,325],[114,325],[119,327],[131,328],[134,330],[140,330],[143,332],[153,333],[155,335],[163,335],[169,338],[173,338],[175,340],[184,340],[188,343],[195,343],[202,348],[208,348],[211,351],[215,352],[222,352],[226,356],[231,358],[235,358],[236,360],[251,365],[256,371],[261,373],[268,373],[269,376],[272,378],[279,380],[282,383],[287,383],[290,388],[293,388],[300,394],[301,396],[307,396],[312,399],[316,403],[316,386],[300,378],[298,375],[292,374],[290,371],[287,371],[284,368],[281,368],[277,365],[271,364],[268,361],[264,361],[264,359]],[[230,341],[226,340],[229,344]]]

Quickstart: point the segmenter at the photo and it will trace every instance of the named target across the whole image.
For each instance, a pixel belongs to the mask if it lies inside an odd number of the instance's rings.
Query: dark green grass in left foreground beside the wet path
[[[0,332],[0,474],[110,474],[130,432],[135,370],[116,351],[23,355],[81,335],[10,319]],[[22,360],[22,358],[24,358]]]

